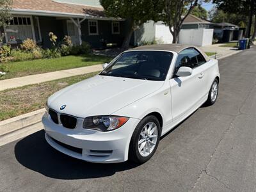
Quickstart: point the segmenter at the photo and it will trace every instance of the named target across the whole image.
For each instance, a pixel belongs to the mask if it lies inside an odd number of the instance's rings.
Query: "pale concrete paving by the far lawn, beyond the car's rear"
[[[217,59],[226,57],[226,56],[230,56],[232,54],[236,54],[239,51],[237,48],[234,47],[220,47],[221,45],[225,45],[225,44],[214,44],[214,45],[207,45],[204,47],[200,47],[202,49],[202,51],[204,52],[217,52]]]

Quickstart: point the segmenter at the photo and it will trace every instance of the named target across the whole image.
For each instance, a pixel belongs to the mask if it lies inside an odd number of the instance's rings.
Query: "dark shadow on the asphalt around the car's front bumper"
[[[89,179],[114,175],[138,165],[130,162],[95,164],[74,159],[52,148],[38,131],[15,145],[15,157],[20,164],[54,179]]]

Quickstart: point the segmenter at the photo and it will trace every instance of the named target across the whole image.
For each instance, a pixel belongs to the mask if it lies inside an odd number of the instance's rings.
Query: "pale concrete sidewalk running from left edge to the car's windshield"
[[[0,91],[17,88],[28,84],[43,83],[45,81],[52,81],[56,79],[62,79],[65,77],[78,76],[83,74],[89,74],[102,70],[102,65],[92,65],[88,67],[72,68],[68,70],[60,70],[56,72],[49,72],[45,74],[37,74],[32,76],[17,77],[13,79],[5,79],[0,81]]]

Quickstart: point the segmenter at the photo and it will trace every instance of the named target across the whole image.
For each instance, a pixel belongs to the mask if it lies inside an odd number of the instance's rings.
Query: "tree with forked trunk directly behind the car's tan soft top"
[[[169,26],[173,36],[173,44],[177,44],[180,29],[184,20],[192,12],[192,10],[202,2],[209,0],[163,0],[160,3],[163,6],[161,13],[162,20]],[[186,10],[186,12],[184,12]]]

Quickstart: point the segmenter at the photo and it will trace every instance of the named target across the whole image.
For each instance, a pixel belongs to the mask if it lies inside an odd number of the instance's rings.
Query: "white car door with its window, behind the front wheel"
[[[191,76],[175,76],[180,67],[192,68]],[[170,79],[173,122],[183,119],[199,107],[203,93],[202,79],[204,79],[204,75],[202,74],[202,67],[198,66],[195,49],[189,48],[180,52],[175,63],[173,78]]]

